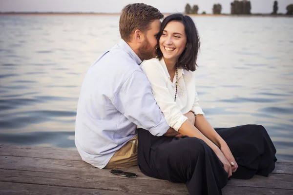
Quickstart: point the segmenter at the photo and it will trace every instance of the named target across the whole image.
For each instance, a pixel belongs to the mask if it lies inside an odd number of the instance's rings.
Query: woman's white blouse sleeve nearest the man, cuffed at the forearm
[[[181,113],[174,98],[170,94],[167,88],[166,74],[160,66],[159,61],[149,60],[142,64],[141,67],[151,84],[157,104],[163,112],[168,125],[178,131],[188,118]]]

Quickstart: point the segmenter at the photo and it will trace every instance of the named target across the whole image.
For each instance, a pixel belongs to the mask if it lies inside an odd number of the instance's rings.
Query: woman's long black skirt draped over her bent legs
[[[215,129],[227,142],[238,169],[231,178],[268,176],[276,149],[261,125]],[[156,137],[138,129],[138,164],[146,176],[185,183],[190,195],[221,195],[228,174],[211,148],[196,137]]]

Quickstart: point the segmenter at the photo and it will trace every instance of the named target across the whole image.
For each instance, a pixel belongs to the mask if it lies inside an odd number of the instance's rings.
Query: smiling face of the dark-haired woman
[[[159,40],[164,59],[176,62],[186,48],[185,27],[180,21],[170,21]]]

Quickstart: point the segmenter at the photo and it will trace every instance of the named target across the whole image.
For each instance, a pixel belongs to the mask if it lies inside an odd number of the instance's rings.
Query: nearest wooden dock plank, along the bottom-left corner
[[[149,195],[119,191],[0,182],[0,195]],[[155,194],[152,194],[155,195]]]

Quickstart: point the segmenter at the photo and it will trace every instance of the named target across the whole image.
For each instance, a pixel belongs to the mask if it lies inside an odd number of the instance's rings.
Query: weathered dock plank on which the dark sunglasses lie
[[[82,161],[70,161],[70,160],[57,160],[57,159],[43,159],[43,158],[29,158],[18,156],[0,156],[0,168],[10,170],[21,171],[34,171],[34,172],[47,172],[47,173],[60,173],[60,174],[74,174],[80,176],[99,176],[121,179],[121,176],[115,176],[109,172],[109,170],[100,170],[89,166]],[[133,171],[134,169],[137,171]],[[126,169],[127,170],[127,169]],[[139,172],[137,167],[133,167],[132,170],[138,174],[135,180],[155,180],[147,177]],[[228,185],[231,186],[247,186],[247,187],[263,187],[263,188],[279,188],[279,189],[293,189],[293,175],[284,174],[271,174],[269,177],[254,176],[249,180],[231,179]]]

